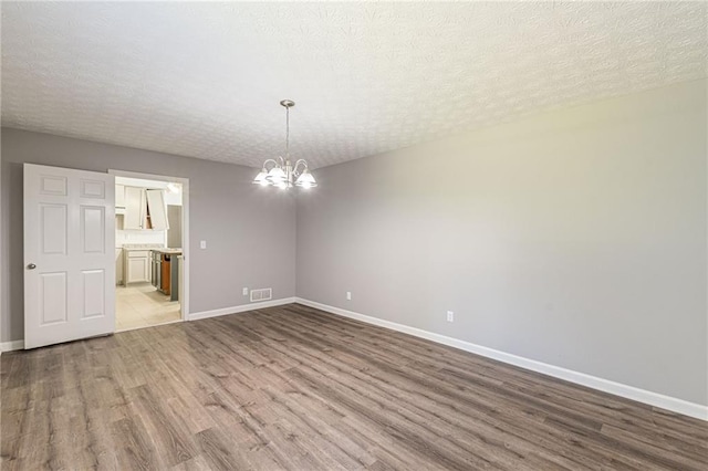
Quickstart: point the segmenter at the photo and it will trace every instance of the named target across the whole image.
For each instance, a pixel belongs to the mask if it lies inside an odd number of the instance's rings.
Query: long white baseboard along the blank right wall
[[[577,385],[586,386],[589,388],[597,389],[604,393],[610,393],[615,396],[621,396],[627,399],[636,400],[638,402],[648,404],[649,406],[659,407],[662,409],[683,414],[685,416],[694,417],[701,420],[708,420],[708,406],[689,402],[689,401],[670,397],[670,396],[664,396],[658,393],[652,393],[646,389],[639,389],[634,386],[624,385],[622,383],[615,383],[608,379],[598,378],[596,376],[586,375],[584,373],[573,371],[572,369],[549,365],[546,363],[537,362],[534,359],[524,358],[518,355],[512,355],[504,352],[496,350],[493,348],[483,347],[481,345],[472,344],[470,342],[465,342],[465,341],[448,337],[445,335],[435,334],[433,332],[424,331],[421,328],[409,327],[407,325],[397,324],[395,322],[384,321],[377,317],[372,317],[372,316],[355,313],[352,311],[346,311],[341,307],[334,307],[334,306],[317,303],[314,301],[304,300],[302,297],[295,297],[295,302],[300,304],[304,304],[305,306],[310,306],[321,311],[326,311],[332,314],[341,315],[343,317],[362,321],[367,324],[377,325],[379,327],[391,328],[392,331],[403,332],[405,334],[413,335],[415,337],[420,337],[431,342],[436,342],[438,344],[459,348],[465,352],[470,352],[480,356],[508,363],[510,365],[519,366],[524,369],[530,369],[532,371],[552,376],[554,378],[564,379],[566,381],[575,383]]]

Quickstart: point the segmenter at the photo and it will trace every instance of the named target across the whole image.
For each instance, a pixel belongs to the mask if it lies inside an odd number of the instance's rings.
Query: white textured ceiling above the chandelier
[[[2,125],[314,167],[707,75],[705,2],[8,3]]]

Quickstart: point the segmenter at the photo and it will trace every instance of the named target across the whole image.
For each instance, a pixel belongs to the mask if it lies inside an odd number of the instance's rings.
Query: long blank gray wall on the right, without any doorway
[[[708,404],[706,85],[319,169],[298,296]]]

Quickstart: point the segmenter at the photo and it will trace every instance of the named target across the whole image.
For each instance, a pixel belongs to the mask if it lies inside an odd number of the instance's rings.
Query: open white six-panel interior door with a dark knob
[[[115,178],[24,164],[24,348],[115,329]]]

